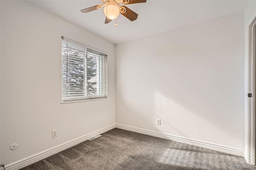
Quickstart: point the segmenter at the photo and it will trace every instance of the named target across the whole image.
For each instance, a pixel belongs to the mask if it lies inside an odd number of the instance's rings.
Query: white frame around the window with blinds
[[[100,54],[103,54],[103,55],[106,55],[105,56],[105,77],[106,77],[106,81],[105,81],[105,96],[99,96],[97,97],[88,97],[88,98],[84,98],[84,97],[80,97],[80,98],[74,98],[74,99],[64,99],[63,98],[63,72],[62,72],[62,65],[63,65],[63,56],[62,56],[62,47],[61,47],[61,103],[64,104],[64,103],[76,103],[76,102],[83,102],[83,101],[93,101],[93,100],[102,100],[102,99],[108,99],[108,53],[106,51],[102,51],[100,49],[96,49],[94,47],[90,47],[88,45],[85,45],[83,43],[80,43],[80,42],[76,42],[74,40],[71,40],[69,38],[66,38],[64,36],[62,36],[62,40],[61,41],[66,41],[66,42],[70,42],[70,43],[73,43],[75,45],[78,45],[78,46],[81,46],[81,47],[84,47],[85,49],[88,49],[89,51],[93,51],[95,53],[100,53]],[[61,43],[62,44],[62,43]],[[87,55],[87,54],[86,54]],[[100,67],[99,67],[100,68]],[[87,77],[87,71],[86,71],[86,74],[85,74],[85,77]],[[87,84],[87,81],[85,79],[85,83]],[[86,87],[87,88],[87,87]]]

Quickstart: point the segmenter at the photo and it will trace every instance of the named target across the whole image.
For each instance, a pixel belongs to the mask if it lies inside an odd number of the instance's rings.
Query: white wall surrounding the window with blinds
[[[108,99],[60,103],[61,36],[108,52]],[[2,164],[115,123],[114,44],[28,2],[1,1],[1,49]]]

